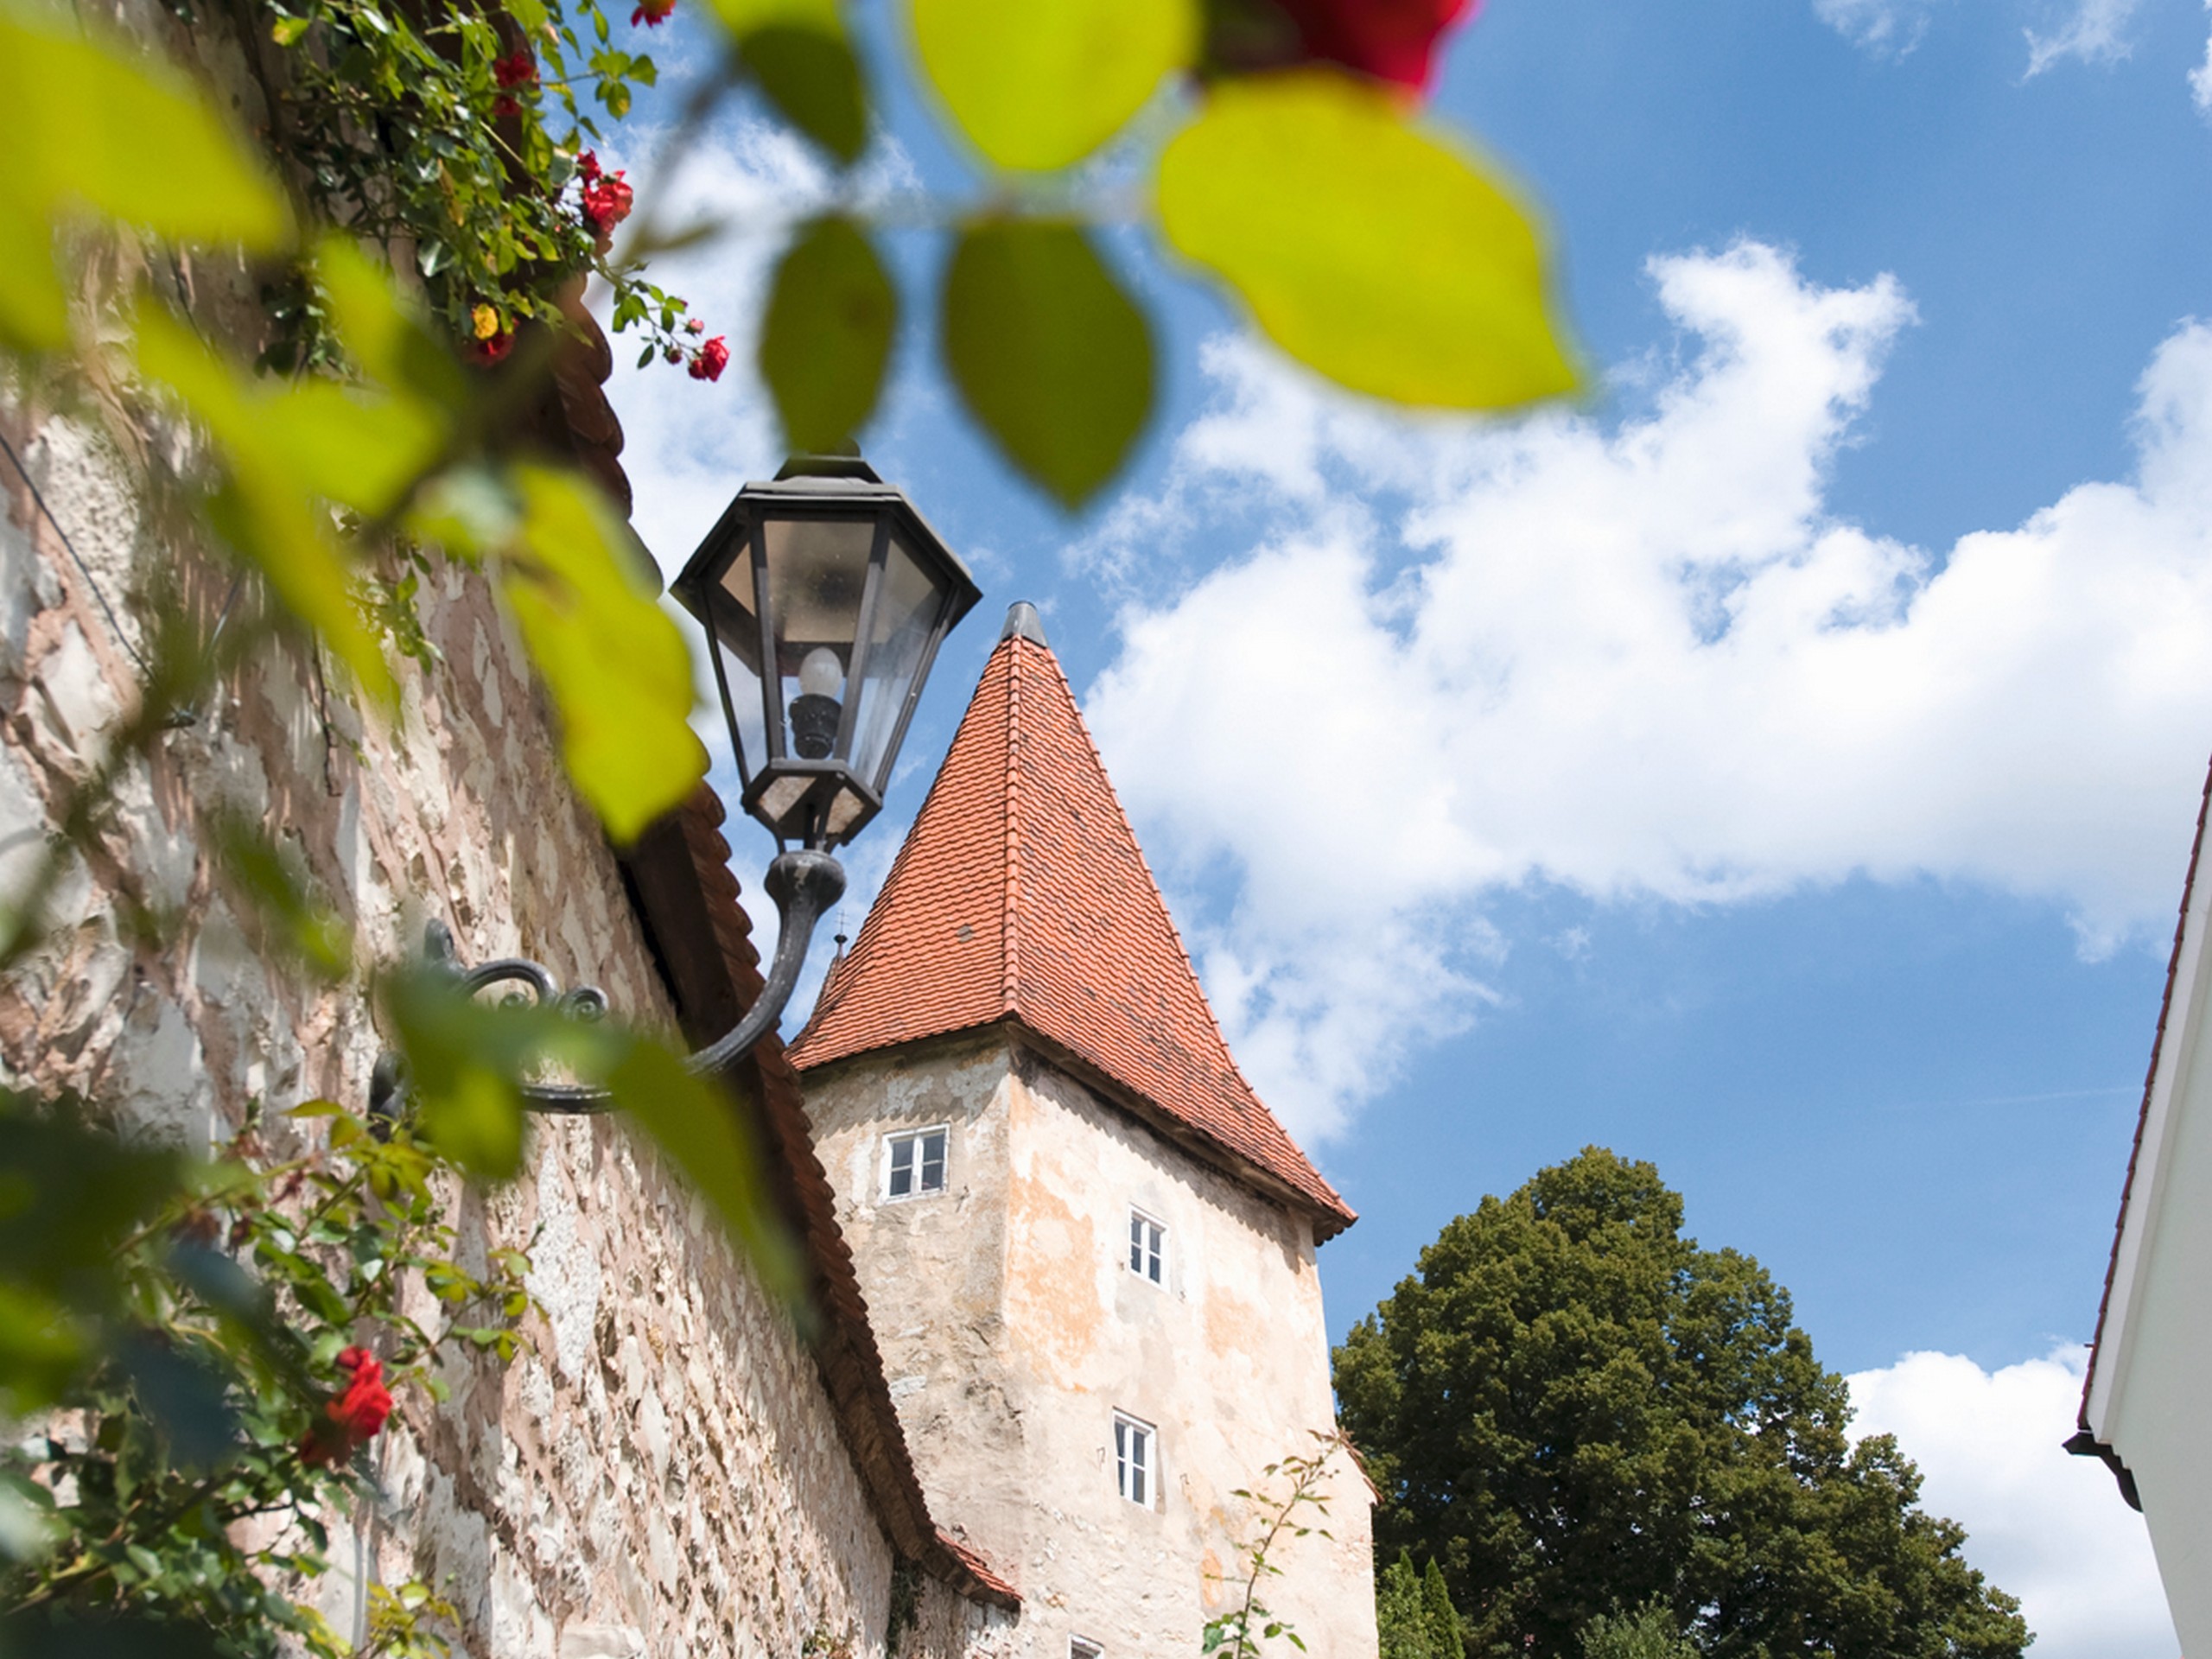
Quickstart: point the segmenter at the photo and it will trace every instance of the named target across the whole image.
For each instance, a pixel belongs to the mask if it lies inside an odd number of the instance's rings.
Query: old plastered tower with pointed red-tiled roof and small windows
[[[1020,1650],[1197,1652],[1261,1471],[1334,1429],[1314,1250],[1354,1221],[1230,1057],[1037,613],[792,1046],[931,1509]],[[1263,1588],[1376,1650],[1371,1489]],[[1307,1515],[1307,1520],[1312,1520]]]

